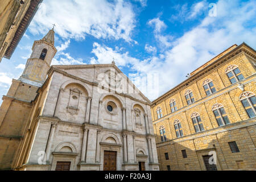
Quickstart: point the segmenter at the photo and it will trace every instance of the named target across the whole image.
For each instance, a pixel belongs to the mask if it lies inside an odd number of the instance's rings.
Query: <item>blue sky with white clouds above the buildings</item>
[[[255,17],[256,0],[44,0],[11,59],[0,63],[0,96],[52,24],[58,50],[52,65],[109,64],[114,58],[152,101],[233,44],[255,49]],[[153,92],[142,84],[152,75]]]

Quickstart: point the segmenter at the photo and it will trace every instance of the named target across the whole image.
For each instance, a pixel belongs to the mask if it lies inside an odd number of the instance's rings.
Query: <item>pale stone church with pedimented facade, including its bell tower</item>
[[[0,107],[0,169],[159,170],[151,102],[115,65],[51,65],[54,30]]]

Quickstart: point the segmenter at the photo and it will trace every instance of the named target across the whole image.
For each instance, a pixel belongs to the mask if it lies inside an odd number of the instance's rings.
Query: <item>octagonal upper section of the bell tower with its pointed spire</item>
[[[19,81],[39,87],[43,85],[52,59],[57,52],[54,46],[54,34],[52,28],[43,39],[35,40],[31,56],[27,60],[22,76],[18,79]]]

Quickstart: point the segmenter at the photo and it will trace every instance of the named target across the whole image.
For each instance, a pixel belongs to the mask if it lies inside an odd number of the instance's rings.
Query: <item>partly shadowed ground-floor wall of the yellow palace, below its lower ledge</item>
[[[204,131],[202,137],[197,133],[167,138],[166,142],[160,142],[160,135],[156,135],[160,170],[256,170],[255,131],[252,125],[212,135]],[[209,164],[210,156],[211,162],[216,159],[216,165]]]

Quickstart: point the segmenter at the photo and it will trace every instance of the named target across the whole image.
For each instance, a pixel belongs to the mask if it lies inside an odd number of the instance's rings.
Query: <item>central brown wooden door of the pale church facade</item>
[[[117,152],[104,151],[104,171],[117,170]]]

